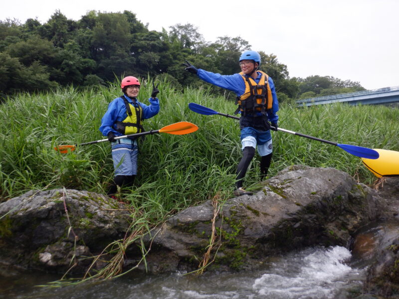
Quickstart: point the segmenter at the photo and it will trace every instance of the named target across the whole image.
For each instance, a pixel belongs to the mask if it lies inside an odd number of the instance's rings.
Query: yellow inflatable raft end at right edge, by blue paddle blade
[[[362,158],[362,162],[377,177],[399,176],[399,151],[374,149],[378,151],[378,159]]]

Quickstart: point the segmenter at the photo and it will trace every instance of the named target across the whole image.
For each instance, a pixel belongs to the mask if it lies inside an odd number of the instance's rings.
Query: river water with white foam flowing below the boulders
[[[54,289],[34,287],[57,279],[51,276],[11,276],[0,280],[0,298],[346,299],[361,292],[365,279],[365,268],[355,265],[358,261],[344,247],[315,247],[270,258],[251,272],[124,276]]]

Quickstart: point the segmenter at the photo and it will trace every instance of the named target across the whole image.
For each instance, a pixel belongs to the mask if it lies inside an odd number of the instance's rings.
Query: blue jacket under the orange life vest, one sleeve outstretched
[[[259,83],[262,74],[259,72],[257,74],[258,76],[256,77],[255,82]],[[205,82],[235,92],[237,96],[241,96],[245,92],[245,82],[242,79],[241,75],[238,73],[234,75],[220,75],[202,69],[198,69],[197,75],[200,77],[201,80]],[[278,111],[278,101],[277,101],[276,89],[274,88],[274,82],[270,78],[270,76],[268,83],[271,89],[273,105],[271,109],[266,110],[267,119],[270,123],[277,123],[278,115],[276,113]]]

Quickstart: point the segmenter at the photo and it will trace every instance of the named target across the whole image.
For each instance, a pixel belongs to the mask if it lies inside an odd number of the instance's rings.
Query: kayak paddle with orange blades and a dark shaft
[[[124,135],[124,136],[118,136],[115,137],[115,140],[122,139],[122,138],[128,138],[128,137],[139,137],[143,135],[149,135],[149,134],[155,134],[155,133],[168,133],[168,134],[173,134],[173,135],[185,135],[185,134],[190,134],[193,132],[196,132],[198,130],[198,127],[192,123],[189,122],[179,122],[175,123],[166,127],[163,127],[159,130],[151,130],[147,132],[141,132],[141,133],[136,133],[136,134],[130,134],[130,135]],[[77,146],[86,146],[86,145],[92,145],[100,142],[105,142],[108,141],[108,139],[102,139],[102,140],[97,140],[97,141],[92,141],[92,142],[86,142],[80,145],[66,145],[66,146],[56,146],[54,149],[56,151],[59,151],[61,153],[66,153],[68,152],[68,149],[75,150]]]

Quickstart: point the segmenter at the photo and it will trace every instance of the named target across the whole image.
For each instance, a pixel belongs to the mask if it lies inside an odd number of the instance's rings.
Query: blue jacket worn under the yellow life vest
[[[131,98],[128,96],[124,95],[126,100],[133,106],[140,105],[142,110],[143,110],[143,115],[142,119],[149,119],[152,118],[153,116],[157,115],[159,112],[159,100],[156,98],[155,100],[153,98],[149,98],[150,106],[147,106],[146,104],[143,104],[137,99],[133,101]],[[107,136],[110,131],[114,132],[115,136],[122,136],[121,133],[116,131],[116,122],[122,122],[124,119],[127,118],[127,112],[126,112],[126,105],[125,102],[121,97],[114,99],[111,103],[108,105],[108,110],[104,114],[103,118],[101,119],[101,126],[100,126],[100,131],[104,136]]]

